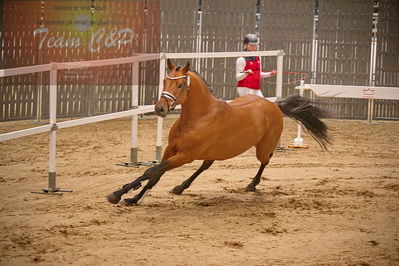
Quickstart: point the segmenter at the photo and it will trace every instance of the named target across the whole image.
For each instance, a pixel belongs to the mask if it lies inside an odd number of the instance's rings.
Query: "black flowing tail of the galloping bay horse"
[[[306,130],[320,146],[327,150],[328,145],[331,144],[328,127],[320,120],[321,117],[327,115],[325,111],[312,105],[309,99],[299,95],[289,96],[278,101],[277,104],[285,115],[305,126]]]

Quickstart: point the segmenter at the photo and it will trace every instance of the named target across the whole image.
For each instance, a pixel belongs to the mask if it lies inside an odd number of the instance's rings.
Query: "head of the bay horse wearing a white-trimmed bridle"
[[[176,105],[184,103],[190,86],[190,76],[188,71],[190,63],[184,67],[178,67],[168,59],[168,74],[163,80],[163,91],[160,99],[155,104],[155,112],[161,117],[165,117]]]

